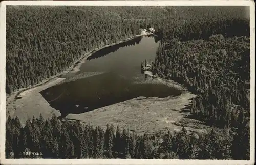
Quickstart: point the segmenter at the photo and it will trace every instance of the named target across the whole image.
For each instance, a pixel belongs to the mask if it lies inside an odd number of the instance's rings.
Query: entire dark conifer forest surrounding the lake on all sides
[[[112,125],[103,130],[62,123],[56,116],[22,127],[18,117],[9,117],[6,157],[27,150],[44,151],[44,158],[249,159],[247,12],[239,6],[7,7],[7,94],[66,70],[84,53],[154,27],[160,38],[154,73],[197,94],[191,116],[228,133],[212,129],[196,138],[183,128],[139,136]]]

